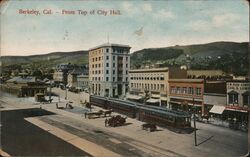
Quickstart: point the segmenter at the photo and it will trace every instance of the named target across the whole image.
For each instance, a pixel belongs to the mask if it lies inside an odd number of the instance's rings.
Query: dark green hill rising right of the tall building
[[[147,48],[136,51],[131,56],[131,65],[135,68],[159,61],[163,63],[163,66],[189,64],[192,69],[221,69],[236,75],[247,75],[248,42],[213,42]]]

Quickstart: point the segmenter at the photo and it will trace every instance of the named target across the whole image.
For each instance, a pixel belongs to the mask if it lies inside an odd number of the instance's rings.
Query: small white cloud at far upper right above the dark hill
[[[214,27],[222,27],[236,22],[239,19],[239,16],[232,13],[225,13],[222,15],[215,15],[212,18],[212,25]]]

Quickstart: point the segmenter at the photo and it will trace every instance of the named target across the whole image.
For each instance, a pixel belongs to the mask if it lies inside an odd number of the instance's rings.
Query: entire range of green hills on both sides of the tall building
[[[197,45],[175,45],[161,48],[145,48],[131,53],[131,66],[140,68],[143,64],[162,63],[163,66],[190,64],[192,69],[222,69],[237,75],[246,75],[249,69],[248,42],[212,42]],[[70,62],[87,64],[88,52],[53,52],[44,55],[2,56],[2,65],[41,64],[55,66]]]

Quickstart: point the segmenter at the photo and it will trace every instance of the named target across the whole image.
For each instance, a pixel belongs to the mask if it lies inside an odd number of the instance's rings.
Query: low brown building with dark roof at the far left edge
[[[14,77],[1,85],[1,90],[17,95],[19,97],[33,97],[37,93],[47,94],[47,86],[43,81],[38,81],[35,77]]]

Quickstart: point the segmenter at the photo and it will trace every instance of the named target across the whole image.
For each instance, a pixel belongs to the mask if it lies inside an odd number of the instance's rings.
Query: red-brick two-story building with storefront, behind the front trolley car
[[[204,114],[204,80],[203,79],[170,79],[169,107],[191,111],[196,106],[197,112]]]

